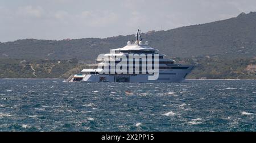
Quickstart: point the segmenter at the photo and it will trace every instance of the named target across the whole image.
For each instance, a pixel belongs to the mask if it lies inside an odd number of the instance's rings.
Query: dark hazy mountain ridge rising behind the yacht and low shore
[[[221,54],[229,57],[256,55],[256,12],[218,22],[187,26],[142,35],[152,47],[168,56],[191,57]],[[134,35],[76,40],[16,40],[0,43],[0,58],[92,60],[98,54],[123,47]],[[0,39],[1,41],[1,39]]]

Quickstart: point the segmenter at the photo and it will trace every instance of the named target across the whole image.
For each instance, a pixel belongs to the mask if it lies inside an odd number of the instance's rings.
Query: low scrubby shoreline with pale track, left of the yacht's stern
[[[77,60],[1,60],[0,78],[63,78],[62,74],[75,68]],[[34,73],[35,72],[35,73]]]

